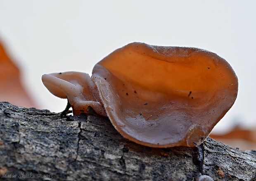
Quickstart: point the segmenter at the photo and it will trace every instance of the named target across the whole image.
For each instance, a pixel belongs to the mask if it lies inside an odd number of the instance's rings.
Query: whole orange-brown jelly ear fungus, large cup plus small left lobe
[[[54,95],[74,114],[91,106],[123,137],[151,147],[197,146],[232,107],[238,81],[215,53],[197,48],[131,43],[101,60],[92,77],[45,74]]]

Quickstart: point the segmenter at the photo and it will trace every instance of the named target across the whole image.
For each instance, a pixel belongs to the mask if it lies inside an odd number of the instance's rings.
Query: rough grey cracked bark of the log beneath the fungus
[[[25,176],[19,178],[21,173]],[[8,174],[17,177],[3,178]],[[43,178],[46,174],[52,177]],[[0,180],[186,181],[200,175],[256,180],[256,151],[211,138],[198,148],[154,149],[123,138],[108,118],[92,111],[61,118],[48,110],[0,103]]]

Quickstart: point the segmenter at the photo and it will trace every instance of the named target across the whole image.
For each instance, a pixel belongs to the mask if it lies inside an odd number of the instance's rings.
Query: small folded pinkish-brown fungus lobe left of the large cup
[[[90,106],[97,114],[107,116],[98,89],[88,74],[82,72],[44,74],[42,81],[53,95],[69,100],[73,114],[86,113]]]

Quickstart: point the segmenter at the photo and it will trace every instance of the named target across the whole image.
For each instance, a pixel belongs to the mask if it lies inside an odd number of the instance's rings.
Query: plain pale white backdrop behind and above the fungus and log
[[[256,126],[256,1],[0,0],[0,38],[22,68],[38,108],[62,111],[41,75],[81,71],[130,42],[194,46],[225,58],[239,79],[234,106],[218,123]]]

